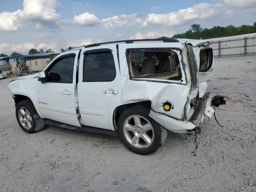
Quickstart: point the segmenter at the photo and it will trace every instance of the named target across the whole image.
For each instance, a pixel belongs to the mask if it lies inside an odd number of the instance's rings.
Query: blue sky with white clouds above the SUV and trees
[[[0,0],[0,53],[252,25],[256,0]]]

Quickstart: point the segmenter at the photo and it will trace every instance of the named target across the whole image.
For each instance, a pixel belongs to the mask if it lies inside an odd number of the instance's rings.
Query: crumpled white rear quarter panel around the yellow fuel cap
[[[122,104],[150,100],[152,110],[180,119],[188,93],[187,85],[127,80],[122,90]],[[169,112],[159,107],[164,100],[170,100],[173,103],[174,108]]]

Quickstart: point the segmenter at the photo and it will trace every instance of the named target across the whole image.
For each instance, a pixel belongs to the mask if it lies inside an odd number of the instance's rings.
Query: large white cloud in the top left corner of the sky
[[[32,22],[35,28],[42,23],[56,22],[60,14],[54,10],[56,0],[24,0],[23,10],[0,13],[0,30],[14,31]]]

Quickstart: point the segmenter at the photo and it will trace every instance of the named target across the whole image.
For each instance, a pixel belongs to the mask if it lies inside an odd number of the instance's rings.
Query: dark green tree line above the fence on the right
[[[200,24],[192,24],[191,28],[181,34],[175,34],[172,38],[188,38],[188,39],[211,39],[218,37],[228,37],[235,35],[242,35],[248,33],[256,33],[256,22],[253,25],[242,25],[235,27],[228,25],[226,27],[214,26],[212,28],[202,28]],[[160,37],[170,38],[170,37]]]

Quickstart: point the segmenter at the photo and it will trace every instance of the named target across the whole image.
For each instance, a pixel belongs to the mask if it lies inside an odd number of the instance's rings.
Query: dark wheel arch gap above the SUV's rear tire
[[[151,109],[151,101],[148,100],[148,101],[128,103],[128,104],[124,104],[124,105],[120,105],[120,106],[116,107],[114,110],[114,113],[113,113],[113,126],[114,126],[115,130],[117,130],[118,120],[119,120],[119,117],[122,114],[122,112],[132,106],[146,108],[148,110],[148,114],[149,114],[150,109]]]

